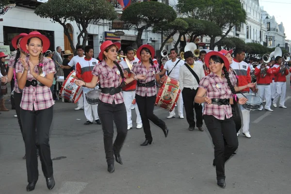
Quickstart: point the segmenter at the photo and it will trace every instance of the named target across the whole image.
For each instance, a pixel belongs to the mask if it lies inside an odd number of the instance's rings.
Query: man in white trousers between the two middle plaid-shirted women
[[[134,58],[134,49],[132,47],[127,47],[125,49],[126,57],[119,63],[123,66],[123,69],[129,73],[132,69],[133,65],[136,65],[139,62],[138,58]],[[127,120],[128,120],[128,130],[132,129],[132,120],[131,120],[131,106],[132,100],[135,98],[135,90],[136,90],[136,81],[132,81],[129,84],[126,84],[122,88],[122,95],[124,99],[124,104],[127,112]],[[143,127],[142,118],[140,112],[138,110],[137,104],[134,105],[135,113],[136,113],[136,129],[141,129]]]

